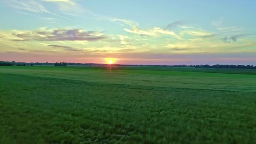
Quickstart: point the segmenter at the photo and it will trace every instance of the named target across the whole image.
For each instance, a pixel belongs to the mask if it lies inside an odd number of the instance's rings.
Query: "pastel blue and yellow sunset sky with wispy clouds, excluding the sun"
[[[0,61],[256,65],[255,0],[0,0]]]

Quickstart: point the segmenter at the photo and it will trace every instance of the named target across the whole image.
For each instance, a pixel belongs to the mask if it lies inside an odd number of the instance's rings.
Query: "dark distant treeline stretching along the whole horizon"
[[[54,65],[54,66],[68,66],[68,65],[75,65],[75,66],[107,66],[108,64],[94,64],[94,63],[72,63],[72,62],[56,62],[56,63],[27,63],[27,62],[15,62],[15,61],[0,61],[0,66],[40,66],[40,65]],[[195,68],[231,68],[231,69],[256,69],[256,66],[253,65],[232,65],[232,64],[201,64],[201,65],[142,65],[142,64],[112,64],[115,66],[147,66],[147,67],[195,67]]]

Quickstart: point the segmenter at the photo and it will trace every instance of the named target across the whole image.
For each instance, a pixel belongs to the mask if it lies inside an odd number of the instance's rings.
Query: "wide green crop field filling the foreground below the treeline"
[[[256,69],[0,67],[0,144],[256,143]]]

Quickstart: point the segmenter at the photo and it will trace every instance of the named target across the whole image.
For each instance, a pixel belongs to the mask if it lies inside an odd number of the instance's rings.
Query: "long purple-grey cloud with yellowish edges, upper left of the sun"
[[[101,32],[84,31],[82,29],[50,29],[39,31],[13,32],[19,39],[13,41],[96,41],[106,38]]]

